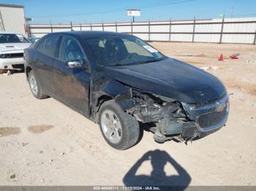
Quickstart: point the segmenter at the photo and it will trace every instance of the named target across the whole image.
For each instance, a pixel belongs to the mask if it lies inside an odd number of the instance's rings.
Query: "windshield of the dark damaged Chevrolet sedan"
[[[158,50],[135,36],[102,36],[86,39],[97,63],[126,66],[166,59]]]

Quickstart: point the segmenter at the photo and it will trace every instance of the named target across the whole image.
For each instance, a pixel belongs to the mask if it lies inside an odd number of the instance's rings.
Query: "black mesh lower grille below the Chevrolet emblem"
[[[218,125],[219,122],[227,115],[227,106],[221,112],[211,112],[208,114],[202,114],[198,117],[198,124],[200,128],[210,128],[211,126]]]

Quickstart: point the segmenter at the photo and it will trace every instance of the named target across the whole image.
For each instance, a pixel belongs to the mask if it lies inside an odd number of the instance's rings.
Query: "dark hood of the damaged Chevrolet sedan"
[[[173,58],[130,66],[108,66],[106,70],[119,82],[185,103],[207,102],[226,93],[217,77]]]

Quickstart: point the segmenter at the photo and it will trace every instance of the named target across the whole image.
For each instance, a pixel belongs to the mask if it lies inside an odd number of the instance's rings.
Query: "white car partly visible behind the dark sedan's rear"
[[[23,50],[30,45],[22,34],[0,31],[0,70],[23,68]]]

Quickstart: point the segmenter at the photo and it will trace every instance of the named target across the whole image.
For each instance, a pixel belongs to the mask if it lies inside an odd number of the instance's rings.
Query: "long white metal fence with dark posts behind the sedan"
[[[40,38],[57,31],[115,31],[146,41],[256,43],[256,17],[168,20],[135,23],[31,24],[29,35]]]

